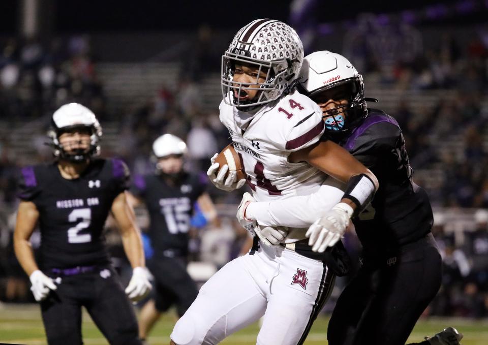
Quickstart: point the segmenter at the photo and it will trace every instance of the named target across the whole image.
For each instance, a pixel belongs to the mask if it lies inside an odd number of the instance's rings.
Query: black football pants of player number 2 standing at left
[[[57,290],[41,302],[42,320],[49,345],[79,345],[81,307],[84,306],[110,344],[140,345],[134,309],[118,276],[110,266],[57,280]]]

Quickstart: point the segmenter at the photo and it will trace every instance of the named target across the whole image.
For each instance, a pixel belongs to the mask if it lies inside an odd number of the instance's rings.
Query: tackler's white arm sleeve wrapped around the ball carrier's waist
[[[319,190],[311,195],[253,202],[249,204],[248,209],[261,226],[308,228],[341,201],[344,189],[344,184],[328,178]]]

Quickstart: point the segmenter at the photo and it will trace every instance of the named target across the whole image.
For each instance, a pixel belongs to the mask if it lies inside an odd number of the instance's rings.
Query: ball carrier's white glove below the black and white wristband
[[[340,202],[317,219],[307,230],[309,245],[314,252],[322,253],[325,248],[333,246],[346,232],[354,210],[346,203]]]

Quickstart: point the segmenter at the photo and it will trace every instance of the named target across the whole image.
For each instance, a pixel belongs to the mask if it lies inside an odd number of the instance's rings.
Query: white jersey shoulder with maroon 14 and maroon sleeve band
[[[325,125],[322,111],[310,98],[294,91],[281,99],[275,109],[280,113],[276,116],[284,119],[285,150],[296,151],[319,141]]]

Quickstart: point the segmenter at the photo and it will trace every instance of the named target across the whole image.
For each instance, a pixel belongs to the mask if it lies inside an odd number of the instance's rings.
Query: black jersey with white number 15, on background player
[[[144,201],[149,212],[149,238],[155,255],[168,249],[181,256],[188,254],[190,219],[205,187],[206,176],[187,173],[176,184],[157,174],[134,178],[133,192]]]

